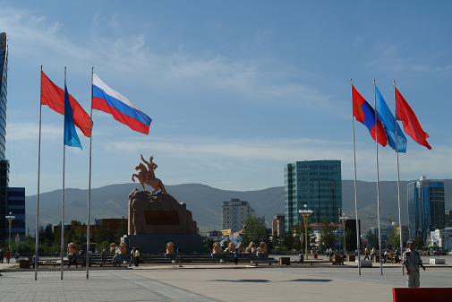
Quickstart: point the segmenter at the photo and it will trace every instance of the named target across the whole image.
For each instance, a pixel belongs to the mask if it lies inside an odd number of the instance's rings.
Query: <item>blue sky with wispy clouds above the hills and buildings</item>
[[[154,156],[166,185],[284,185],[296,160],[342,160],[352,179],[350,80],[389,108],[392,82],[424,130],[408,137],[404,180],[452,177],[452,4],[448,1],[1,1],[9,36],[10,186],[37,191],[39,69],[90,108],[90,71],[152,118],[143,135],[94,112],[92,186],[131,181]],[[41,192],[62,187],[63,116],[42,115]],[[88,187],[90,141],[66,149],[66,187]],[[375,181],[375,143],[356,124],[359,179]],[[380,148],[380,179],[397,179]]]

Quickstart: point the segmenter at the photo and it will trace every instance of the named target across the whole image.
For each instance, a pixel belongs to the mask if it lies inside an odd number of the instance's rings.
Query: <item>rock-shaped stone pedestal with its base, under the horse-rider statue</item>
[[[139,248],[141,253],[164,254],[169,241],[180,253],[202,252],[196,221],[185,203],[177,202],[170,194],[151,195],[148,191],[129,194],[129,232],[121,241]]]

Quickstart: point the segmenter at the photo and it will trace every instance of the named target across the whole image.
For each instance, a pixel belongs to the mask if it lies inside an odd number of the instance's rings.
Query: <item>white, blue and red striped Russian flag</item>
[[[124,95],[102,82],[96,73],[92,78],[92,108],[111,114],[116,121],[128,125],[134,131],[149,134],[150,117]]]

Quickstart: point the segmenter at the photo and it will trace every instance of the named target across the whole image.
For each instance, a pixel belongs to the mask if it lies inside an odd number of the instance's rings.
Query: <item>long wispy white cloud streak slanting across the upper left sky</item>
[[[100,21],[95,17],[93,22],[95,25],[107,22],[114,27],[118,16],[113,14]],[[151,87],[204,91],[209,95],[215,91],[260,104],[265,101],[317,109],[334,105],[330,96],[310,84],[288,81],[288,77],[296,78],[301,71],[281,62],[237,60],[221,55],[190,56],[180,50],[162,54],[149,47],[144,33],[100,38],[93,32],[92,39],[76,43],[64,35],[64,24],[11,7],[2,8],[0,28],[8,32],[14,53],[27,59],[38,56],[45,66],[71,63],[72,72],[86,73],[85,69],[95,64],[107,71],[109,78],[121,81],[133,79],[130,82],[134,84],[144,82]]]

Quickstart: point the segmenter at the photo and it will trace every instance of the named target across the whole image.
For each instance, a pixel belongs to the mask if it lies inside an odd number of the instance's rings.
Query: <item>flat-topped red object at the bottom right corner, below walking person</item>
[[[452,288],[392,289],[394,302],[450,302]]]

